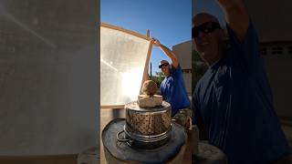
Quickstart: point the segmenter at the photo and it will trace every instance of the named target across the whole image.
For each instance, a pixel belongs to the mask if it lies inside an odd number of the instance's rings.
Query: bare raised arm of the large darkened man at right
[[[217,0],[224,10],[228,25],[235,31],[240,41],[245,39],[249,25],[249,15],[243,0]]]

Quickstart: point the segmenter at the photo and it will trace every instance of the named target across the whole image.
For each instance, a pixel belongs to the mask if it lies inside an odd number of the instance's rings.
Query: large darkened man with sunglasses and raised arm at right
[[[276,118],[255,28],[242,0],[217,2],[226,31],[214,15],[193,17],[193,43],[209,66],[193,93],[193,123],[200,138],[224,151],[228,163],[286,161],[287,139]]]

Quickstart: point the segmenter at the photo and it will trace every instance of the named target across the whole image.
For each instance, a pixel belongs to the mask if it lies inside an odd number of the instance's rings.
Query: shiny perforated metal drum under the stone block
[[[120,141],[127,141],[130,146],[156,148],[165,143],[171,136],[172,108],[165,101],[156,108],[140,108],[137,102],[130,102],[125,106],[126,124],[123,131],[125,137]]]

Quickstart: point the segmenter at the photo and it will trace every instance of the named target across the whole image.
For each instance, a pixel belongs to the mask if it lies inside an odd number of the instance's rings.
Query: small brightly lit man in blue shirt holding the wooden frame
[[[172,105],[172,117],[179,109],[190,108],[191,102],[184,87],[183,72],[177,57],[172,50],[163,46],[158,39],[153,39],[153,44],[162,49],[164,54],[172,60],[172,65],[166,60],[162,60],[159,68],[165,76],[161,85],[162,97]]]

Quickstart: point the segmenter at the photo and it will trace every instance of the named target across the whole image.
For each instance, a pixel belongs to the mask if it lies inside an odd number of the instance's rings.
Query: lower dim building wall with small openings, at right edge
[[[272,88],[276,113],[280,118],[292,119],[292,47],[291,43],[275,43],[266,47],[264,61]],[[273,53],[273,47],[282,47],[283,54]]]

